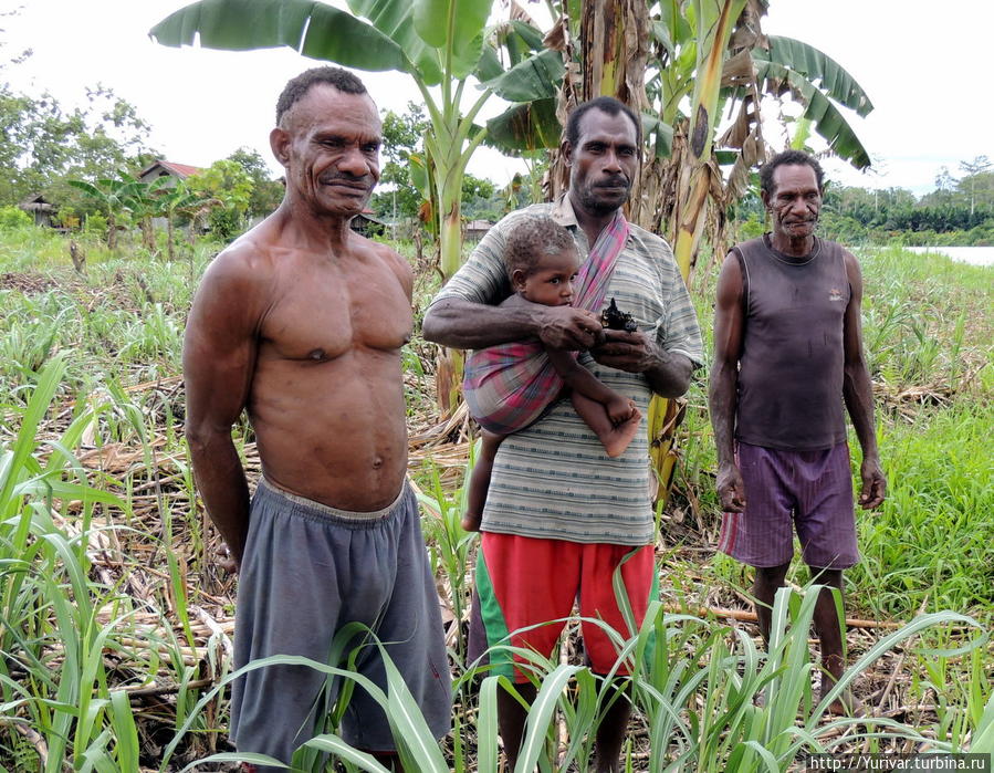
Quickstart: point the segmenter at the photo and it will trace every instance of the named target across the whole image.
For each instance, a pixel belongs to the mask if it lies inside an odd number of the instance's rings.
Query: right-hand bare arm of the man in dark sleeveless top
[[[862,323],[860,320],[862,274],[856,258],[849,252],[844,254],[846,273],[849,276],[849,305],[846,306],[843,322],[843,346],[846,357],[843,397],[862,449],[862,463],[859,468],[862,490],[859,493],[859,504],[864,510],[870,510],[883,501],[887,494],[887,480],[880,469],[877,432],[873,427],[873,385],[870,382],[870,373],[862,349]]]

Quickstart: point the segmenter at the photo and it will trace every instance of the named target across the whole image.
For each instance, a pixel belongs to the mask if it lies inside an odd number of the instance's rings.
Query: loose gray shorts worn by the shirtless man
[[[260,480],[239,574],[236,667],[271,655],[327,662],[332,638],[352,621],[376,633],[428,727],[436,738],[444,735],[451,725],[451,680],[438,594],[410,487],[405,483],[389,508],[349,513]],[[346,655],[360,644],[356,638]],[[355,670],[386,690],[375,645],[359,650]],[[304,666],[268,666],[236,680],[236,748],[289,763],[294,749],[324,730],[325,717],[315,717],[314,709],[325,679]],[[337,687],[332,686],[332,699]],[[358,685],[339,734],[367,751],[396,748],[386,715]]]

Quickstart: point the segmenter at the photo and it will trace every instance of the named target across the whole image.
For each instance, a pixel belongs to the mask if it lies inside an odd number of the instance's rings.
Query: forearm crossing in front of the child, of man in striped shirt
[[[600,335],[597,316],[573,306],[543,306],[512,295],[499,306],[448,296],[425,313],[426,341],[459,349],[482,349],[536,337],[552,349],[586,349]]]

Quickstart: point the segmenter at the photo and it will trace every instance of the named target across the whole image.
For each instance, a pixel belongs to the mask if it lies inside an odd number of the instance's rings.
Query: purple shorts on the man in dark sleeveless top
[[[845,570],[859,561],[849,447],[783,451],[737,443],[746,510],[725,513],[718,550],[750,566],[794,557],[794,529],[804,563]]]

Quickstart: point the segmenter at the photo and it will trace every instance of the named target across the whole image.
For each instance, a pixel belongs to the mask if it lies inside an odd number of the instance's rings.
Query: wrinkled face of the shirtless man
[[[316,213],[362,212],[379,180],[380,130],[368,94],[312,86],[284,116],[282,156],[274,142],[286,185]]]

